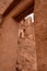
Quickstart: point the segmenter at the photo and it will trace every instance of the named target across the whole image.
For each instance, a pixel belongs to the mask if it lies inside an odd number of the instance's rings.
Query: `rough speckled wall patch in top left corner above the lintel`
[[[0,14],[13,2],[13,0],[0,0]]]

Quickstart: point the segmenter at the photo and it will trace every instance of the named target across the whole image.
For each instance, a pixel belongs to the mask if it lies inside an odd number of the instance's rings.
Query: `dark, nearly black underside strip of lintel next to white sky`
[[[23,20],[25,16],[27,16],[28,14],[31,14],[34,11],[34,5],[26,9],[24,12],[22,12],[20,15],[17,15],[16,17],[14,16],[14,20],[16,21],[21,21]]]

